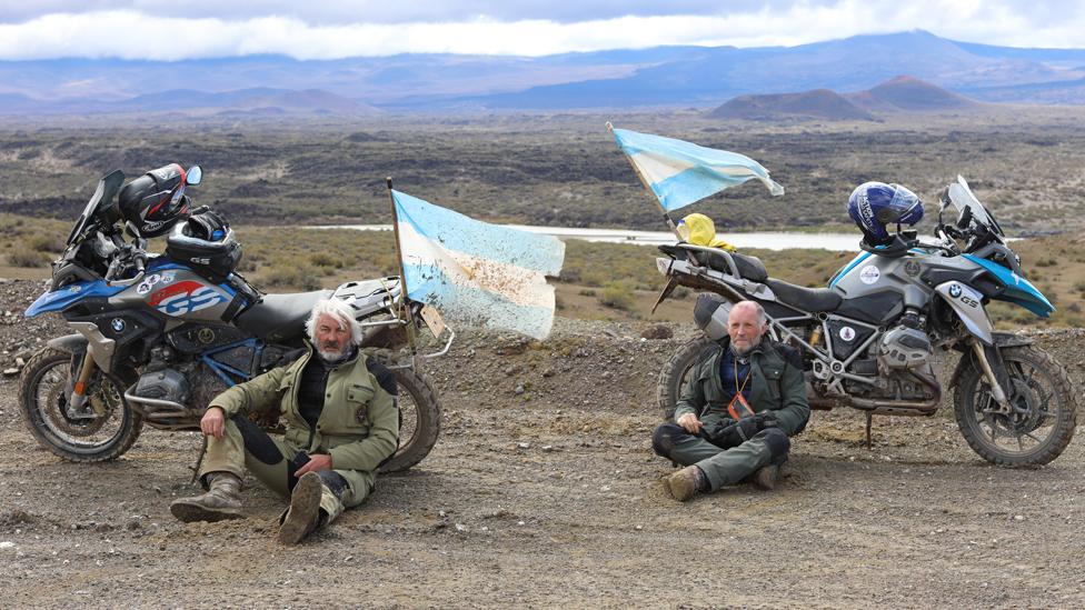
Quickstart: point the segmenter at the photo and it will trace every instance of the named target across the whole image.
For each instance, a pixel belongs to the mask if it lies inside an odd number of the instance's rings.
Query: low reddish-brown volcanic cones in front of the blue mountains
[[[738,96],[709,116],[749,120],[799,117],[869,121],[875,120],[876,114],[967,111],[982,106],[915,77],[903,76],[855,93],[814,89],[799,93]]]

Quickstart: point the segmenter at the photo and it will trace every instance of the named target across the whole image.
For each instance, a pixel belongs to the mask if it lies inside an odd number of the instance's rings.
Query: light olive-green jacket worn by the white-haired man
[[[399,413],[391,394],[369,372],[359,351],[328,372],[323,410],[312,430],[298,409],[298,383],[310,358],[317,358],[311,346],[295,362],[226,390],[211,406],[227,416],[278,408],[286,421],[287,443],[310,454],[331,456],[337,471],[377,470],[399,446]]]

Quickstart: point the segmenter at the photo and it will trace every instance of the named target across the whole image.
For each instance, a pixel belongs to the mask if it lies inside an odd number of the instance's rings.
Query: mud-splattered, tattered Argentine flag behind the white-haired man
[[[461,322],[544,339],[554,323],[554,287],[565,243],[487,224],[391,191],[407,294]]]

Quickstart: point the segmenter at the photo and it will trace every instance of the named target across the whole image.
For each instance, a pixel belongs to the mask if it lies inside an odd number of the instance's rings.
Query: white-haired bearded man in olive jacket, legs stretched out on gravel
[[[208,491],[170,504],[185,522],[241,519],[241,478],[248,469],[290,501],[279,541],[296,544],[361,503],[377,468],[396,452],[399,413],[395,376],[359,353],[361,327],[338,299],[317,302],[306,322],[306,353],[216,397],[200,421]],[[272,439],[247,416],[277,411],[286,421]]]

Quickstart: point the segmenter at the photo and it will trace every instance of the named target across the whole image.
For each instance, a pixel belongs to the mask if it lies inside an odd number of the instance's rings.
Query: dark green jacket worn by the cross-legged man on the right
[[[720,358],[729,347],[730,338],[725,337],[700,354],[678,399],[675,421],[686,413],[694,413],[701,421],[730,419],[727,403],[731,397],[724,396],[719,379]],[[810,407],[798,352],[763,338],[750,350],[750,370],[749,406],[754,412],[774,411],[780,429],[789,437],[802,432],[810,418]]]

